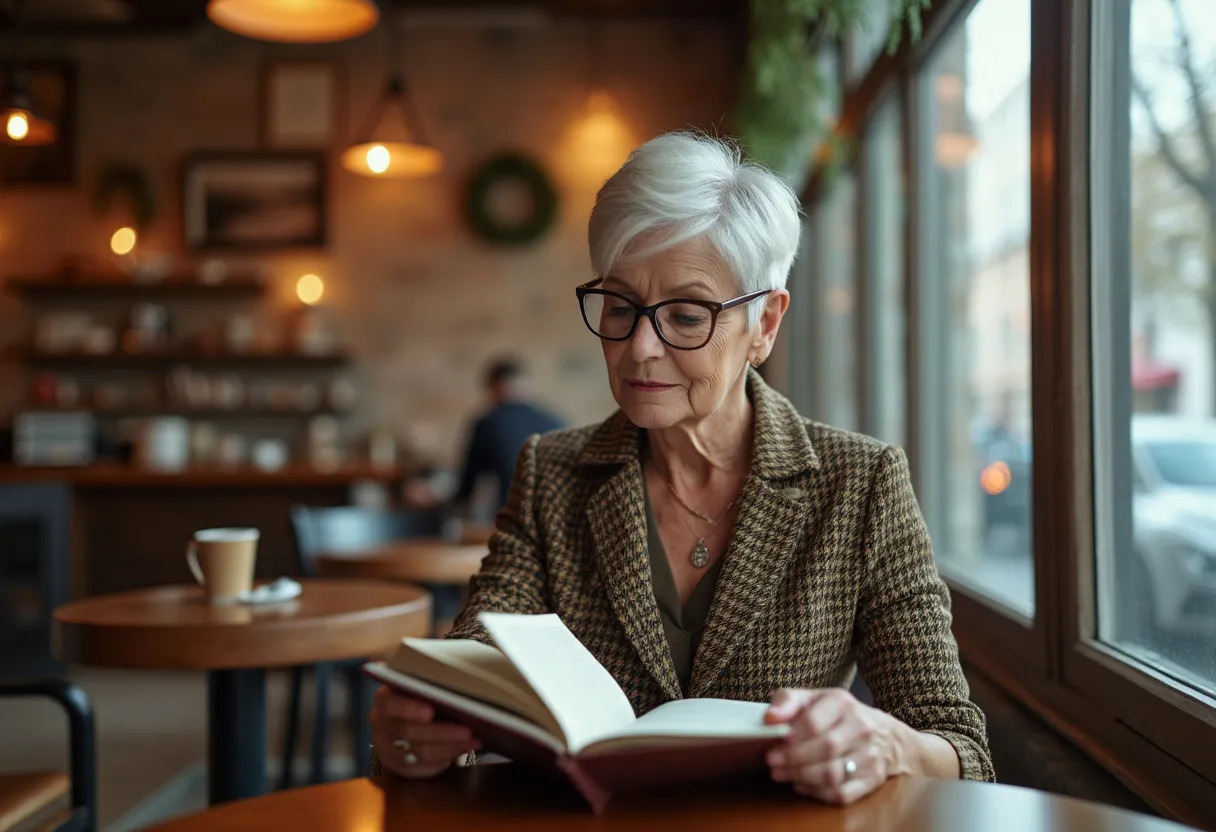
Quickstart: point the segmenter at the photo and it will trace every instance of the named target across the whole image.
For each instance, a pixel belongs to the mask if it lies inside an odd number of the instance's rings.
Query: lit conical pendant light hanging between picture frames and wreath
[[[401,49],[393,32],[389,60],[399,55]],[[400,127],[395,130],[388,129],[392,127],[390,113],[400,116]],[[342,167],[362,176],[395,179],[429,176],[444,167],[444,157],[427,139],[418,111],[410,100],[405,75],[400,72],[389,75],[384,91],[367,113],[354,142],[342,152]]]

